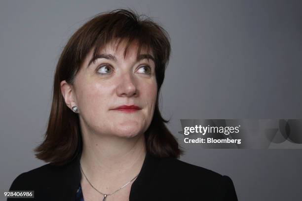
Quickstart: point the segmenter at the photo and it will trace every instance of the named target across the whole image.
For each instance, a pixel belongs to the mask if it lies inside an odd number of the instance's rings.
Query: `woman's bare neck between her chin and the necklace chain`
[[[110,192],[134,178],[146,156],[144,134],[131,138],[83,134],[80,164],[90,183]],[[85,185],[82,175],[81,183]],[[87,183],[86,183],[87,184]]]

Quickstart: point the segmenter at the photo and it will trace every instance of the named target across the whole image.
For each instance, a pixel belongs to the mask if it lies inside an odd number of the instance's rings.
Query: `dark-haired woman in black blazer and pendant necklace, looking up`
[[[183,151],[158,107],[170,50],[165,30],[131,10],[79,28],[59,59],[35,149],[48,164],[10,190],[34,190],[31,201],[236,201],[228,176],[178,160]]]

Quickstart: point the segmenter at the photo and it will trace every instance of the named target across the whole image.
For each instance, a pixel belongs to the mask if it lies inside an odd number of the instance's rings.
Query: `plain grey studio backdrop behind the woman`
[[[32,150],[46,129],[67,39],[89,17],[120,7],[153,17],[170,33],[161,103],[181,144],[179,119],[302,118],[302,1],[1,0],[1,192],[44,164]],[[182,145],[181,160],[230,176],[240,201],[302,199],[301,149]]]

